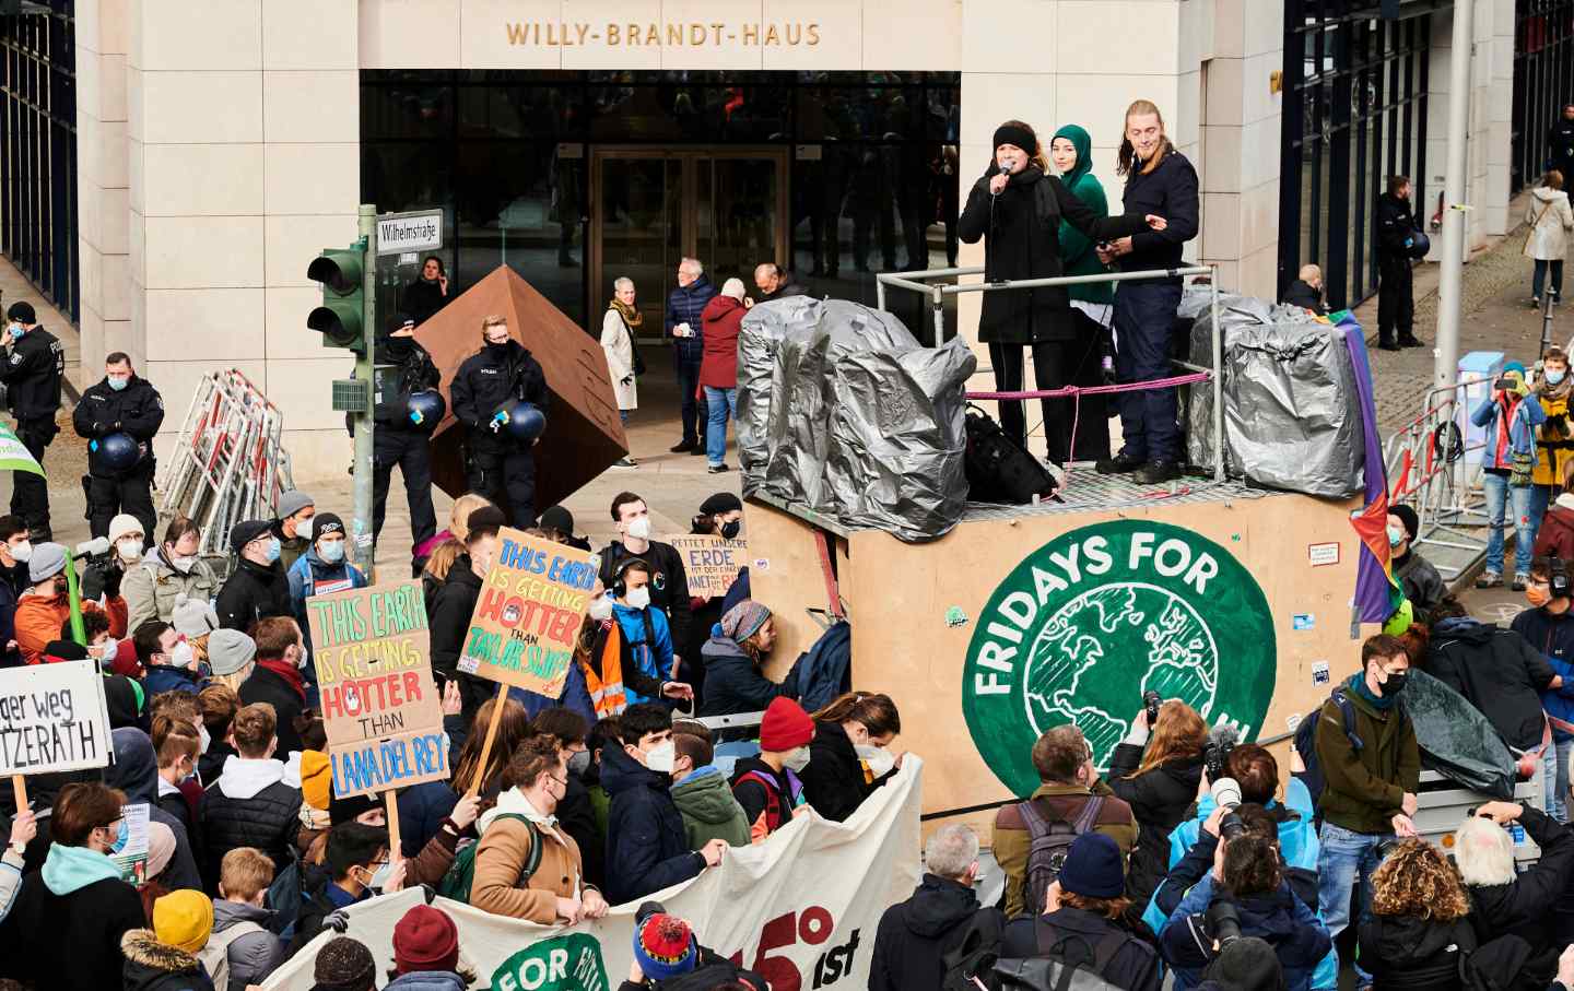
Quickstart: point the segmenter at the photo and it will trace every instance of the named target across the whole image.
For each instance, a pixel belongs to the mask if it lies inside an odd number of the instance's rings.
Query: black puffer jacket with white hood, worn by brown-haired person
[[[275,766],[277,764],[277,766]],[[283,783],[275,760],[230,760],[219,780],[201,796],[203,878],[217,890],[219,862],[239,846],[255,846],[274,862],[290,865],[290,840],[299,831],[301,790]]]

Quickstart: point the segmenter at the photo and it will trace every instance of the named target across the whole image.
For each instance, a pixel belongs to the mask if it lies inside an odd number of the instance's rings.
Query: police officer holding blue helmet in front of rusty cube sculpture
[[[549,393],[541,365],[508,337],[507,318],[482,318],[482,349],[460,365],[449,393],[453,415],[469,428],[471,491],[508,507],[513,525],[534,525],[535,455],[504,431],[507,414],[499,407],[523,400],[546,412]]]

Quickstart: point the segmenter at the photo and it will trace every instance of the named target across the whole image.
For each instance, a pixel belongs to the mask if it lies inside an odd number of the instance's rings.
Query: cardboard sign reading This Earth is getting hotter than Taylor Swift
[[[587,552],[523,530],[505,527],[499,538],[458,667],[559,698],[590,606],[595,566]]]

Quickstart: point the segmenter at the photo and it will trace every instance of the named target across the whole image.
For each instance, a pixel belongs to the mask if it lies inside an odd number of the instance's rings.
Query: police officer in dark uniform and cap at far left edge
[[[5,341],[11,352],[0,363],[0,382],[6,387],[11,412],[16,415],[16,437],[44,464],[44,448],[60,428],[60,379],[66,374],[66,351],[60,340],[38,326],[31,304],[14,302],[5,313]],[[31,472],[16,472],[11,481],[11,513],[27,521],[33,541],[54,536],[49,529],[49,483]]]

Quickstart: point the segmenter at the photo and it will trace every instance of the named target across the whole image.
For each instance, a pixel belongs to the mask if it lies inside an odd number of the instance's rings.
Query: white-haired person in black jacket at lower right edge
[[[1541,848],[1541,859],[1522,873],[1508,832],[1516,823]],[[1574,870],[1574,834],[1539,809],[1487,802],[1454,832],[1454,862],[1470,895],[1476,939],[1520,936],[1535,955],[1532,971],[1550,977],[1557,950],[1574,934],[1563,893]]]

